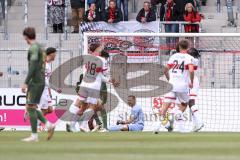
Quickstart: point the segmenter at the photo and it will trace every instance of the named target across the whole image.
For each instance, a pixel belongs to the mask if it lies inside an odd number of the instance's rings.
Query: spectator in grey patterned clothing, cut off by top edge
[[[48,23],[53,33],[63,33],[65,0],[48,0]]]

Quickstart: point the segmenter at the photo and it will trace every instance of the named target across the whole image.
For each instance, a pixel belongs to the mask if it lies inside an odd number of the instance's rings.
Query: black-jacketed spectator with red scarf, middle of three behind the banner
[[[123,20],[122,11],[117,8],[115,0],[109,1],[109,7],[105,10],[104,18],[108,23],[118,23]]]

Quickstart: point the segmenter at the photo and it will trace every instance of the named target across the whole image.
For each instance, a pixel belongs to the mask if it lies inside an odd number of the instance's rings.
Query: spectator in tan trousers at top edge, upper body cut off
[[[85,12],[85,0],[70,0],[72,8],[73,33],[79,32],[79,24],[83,21]]]

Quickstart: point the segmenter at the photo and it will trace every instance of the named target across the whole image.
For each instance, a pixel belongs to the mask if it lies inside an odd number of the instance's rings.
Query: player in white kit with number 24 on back
[[[193,87],[194,80],[194,66],[193,57],[187,53],[189,48],[189,42],[187,40],[181,40],[179,42],[179,53],[173,54],[165,67],[164,74],[172,84],[172,91],[164,96],[163,108],[161,110],[160,116],[162,125],[164,125],[169,131],[173,130],[173,119],[178,123],[178,128],[176,130],[182,130],[183,125],[183,112],[189,102],[188,91],[189,88]],[[190,83],[189,83],[190,79]],[[179,100],[179,108],[175,112],[175,116],[169,121],[167,110],[171,103],[175,103],[176,99]],[[156,128],[155,133],[158,133],[160,126]]]

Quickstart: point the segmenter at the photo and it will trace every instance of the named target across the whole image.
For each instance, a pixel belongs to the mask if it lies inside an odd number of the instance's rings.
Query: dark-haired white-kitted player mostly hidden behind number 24
[[[190,48],[188,49],[188,54],[194,57],[193,59],[193,65],[194,65],[194,70],[198,70],[198,64],[199,64],[199,51],[195,48]],[[197,132],[202,127],[204,126],[201,118],[199,117],[199,110],[198,107],[196,106],[196,98],[198,95],[198,90],[199,90],[199,80],[198,77],[195,75],[194,76],[194,81],[193,81],[193,88],[190,89],[189,91],[189,108],[192,113],[192,118],[193,118],[193,131]]]

